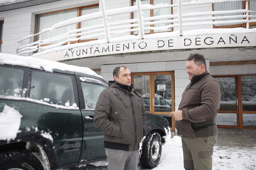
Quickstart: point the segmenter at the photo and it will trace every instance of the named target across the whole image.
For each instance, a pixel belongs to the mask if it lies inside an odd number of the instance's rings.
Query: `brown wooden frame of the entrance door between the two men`
[[[142,72],[142,73],[131,73],[131,81],[134,83],[134,76],[149,75],[149,112],[152,114],[168,115],[170,112],[154,112],[154,106],[152,104],[152,95],[154,92],[154,75],[171,75],[171,94],[172,94],[172,111],[175,111],[175,86],[174,86],[174,71],[157,71],[157,72]],[[136,87],[135,87],[136,89]],[[155,93],[155,92],[154,92]],[[175,119],[172,117],[171,130],[175,130]]]

